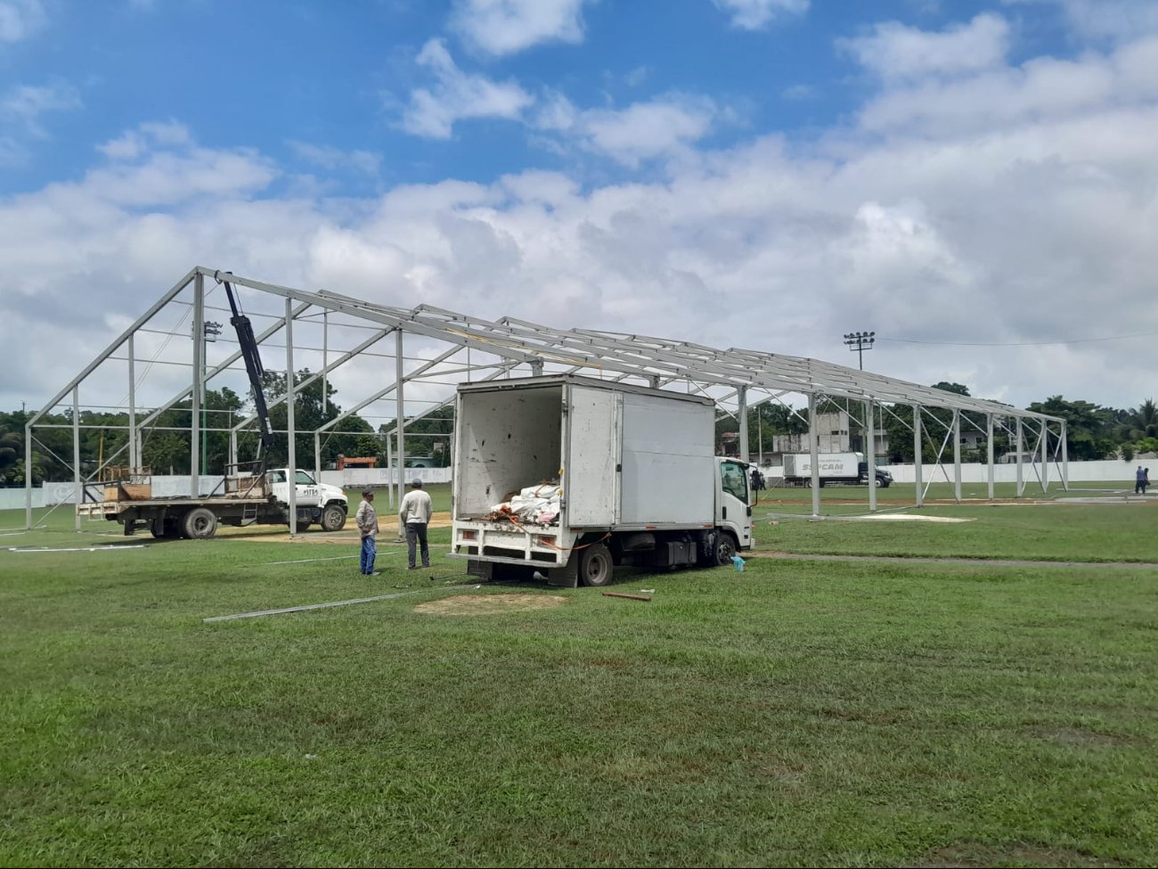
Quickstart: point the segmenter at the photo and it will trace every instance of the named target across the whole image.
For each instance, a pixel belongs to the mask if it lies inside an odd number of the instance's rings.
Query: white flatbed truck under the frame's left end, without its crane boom
[[[298,531],[317,524],[323,531],[340,531],[346,524],[350,503],[336,485],[318,483],[305,470],[292,475],[298,507]],[[120,523],[125,534],[147,528],[155,538],[207,539],[218,525],[288,525],[288,468],[274,468],[263,476],[235,474],[222,477],[207,496],[153,497],[148,475],[98,484],[100,499],[86,499],[76,512],[89,518]]]

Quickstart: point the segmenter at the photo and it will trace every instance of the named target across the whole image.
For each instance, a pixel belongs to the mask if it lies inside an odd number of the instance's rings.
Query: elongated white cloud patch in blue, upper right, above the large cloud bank
[[[931,34],[897,22],[877,24],[871,36],[837,45],[885,79],[921,79],[990,70],[1004,63],[1009,24],[992,14]]]

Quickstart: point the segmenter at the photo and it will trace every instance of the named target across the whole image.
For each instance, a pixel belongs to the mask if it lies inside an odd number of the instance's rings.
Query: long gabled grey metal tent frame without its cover
[[[769,401],[784,404],[785,395],[801,395],[808,401],[809,444],[813,454],[812,462],[812,506],[813,514],[820,514],[819,467],[816,462],[818,402],[826,399],[842,399],[863,406],[864,416],[856,422],[865,426],[865,431],[875,432],[875,419],[880,412],[893,412],[889,404],[908,404],[914,409],[911,430],[916,453],[916,504],[924,502],[928,484],[923,485],[923,467],[921,446],[926,434],[924,419],[944,425],[943,421],[931,415],[930,409],[952,410],[952,422],[945,425],[945,437],[938,451],[936,467],[943,467],[940,457],[950,438],[953,440],[953,482],[958,501],[961,499],[961,454],[960,430],[962,419],[981,430],[980,424],[963,414],[983,416],[984,431],[988,434],[988,497],[994,497],[994,430],[995,426],[1007,431],[1017,444],[1017,495],[1021,497],[1025,489],[1023,473],[1024,438],[1026,428],[1035,433],[1034,454],[1040,451],[1041,473],[1039,482],[1042,491],[1048,491],[1049,446],[1054,444],[1053,459],[1058,460],[1061,483],[1069,488],[1069,465],[1065,452],[1065,421],[1054,416],[1021,410],[1009,404],[984,401],[962,395],[955,395],[940,389],[918,384],[889,378],[872,372],[849,368],[843,365],[809,359],[805,357],[770,353],[762,350],[742,348],[719,349],[687,341],[653,337],[647,335],[626,334],[600,329],[557,329],[527,320],[504,316],[489,320],[470,314],[463,314],[431,305],[419,305],[416,308],[400,308],[379,305],[351,295],[332,291],[306,291],[278,284],[254,280],[228,272],[204,266],[191,269],[173,287],[166,292],[152,307],[115,338],[91,363],[64,386],[39,411],[25,423],[25,468],[32,465],[32,444],[38,428],[51,428],[41,423],[45,415],[53,412],[71,394],[71,426],[73,432],[73,480],[76,491],[83,490],[80,460],[81,430],[81,388],[96,386],[109,388],[119,377],[126,377],[127,389],[124,401],[116,406],[127,410],[129,437],[124,448],[129,453],[130,467],[141,465],[142,437],[156,429],[160,415],[179,402],[190,402],[190,495],[198,494],[199,476],[203,472],[201,457],[198,452],[198,440],[203,428],[212,431],[228,431],[230,462],[236,462],[237,436],[252,425],[254,419],[243,418],[236,423],[230,421],[227,429],[210,428],[203,422],[203,401],[206,385],[214,379],[239,382],[242,368],[237,363],[241,350],[233,349],[219,353],[212,363],[208,360],[208,339],[206,326],[207,313],[225,311],[212,304],[212,293],[221,279],[227,278],[234,287],[245,290],[250,313],[257,319],[272,322],[256,334],[258,345],[266,352],[266,367],[272,357],[271,350],[284,350],[285,371],[296,372],[298,365],[310,363],[316,365],[309,377],[301,384],[294,384],[293,377],[286,378],[286,393],[270,402],[271,407],[286,404],[287,423],[281,433],[288,436],[290,467],[298,467],[295,455],[295,434],[313,433],[315,470],[320,467],[320,443],[323,436],[335,431],[335,426],[352,414],[366,409],[380,408],[383,403],[393,406],[393,431],[395,443],[394,458],[400,473],[395,481],[397,496],[402,495],[402,469],[405,467],[405,426],[438,408],[445,407],[453,399],[454,384],[463,379],[489,379],[511,377],[514,374],[540,375],[544,373],[584,373],[604,379],[636,381],[655,388],[686,389],[712,397],[719,412],[735,416],[740,422],[740,455],[750,460],[748,445],[747,415],[749,409]],[[179,316],[178,316],[179,314]],[[174,319],[176,317],[176,321]],[[186,353],[179,348],[171,348],[173,338],[184,335],[184,323],[191,320],[188,337],[203,336],[192,339],[192,352]],[[366,334],[368,333],[368,335]],[[299,336],[299,337],[295,337]],[[379,344],[394,336],[393,352],[379,352]],[[163,337],[163,341],[161,339]],[[408,341],[409,352],[408,356]],[[321,346],[310,344],[309,339],[320,338]],[[280,341],[280,344],[278,342]],[[332,343],[331,343],[332,342]],[[217,344],[236,346],[228,333],[215,339]],[[145,373],[138,375],[141,359],[139,350],[154,350],[154,356],[146,363]],[[393,359],[390,378],[383,378],[378,367],[378,359]],[[111,373],[124,365],[119,374]],[[142,399],[146,392],[146,375],[155,367],[177,366],[188,368],[188,377],[181,379],[175,392],[166,395],[153,388],[148,399]],[[368,382],[364,394],[354,396],[354,402],[334,419],[322,424],[316,430],[302,431],[295,428],[294,404],[295,392],[316,381],[322,381],[323,400],[328,401],[327,384],[335,377],[345,378],[344,388],[351,384]],[[454,378],[452,381],[445,378]],[[170,380],[162,378],[167,384]],[[379,384],[386,380],[384,386]],[[406,414],[408,387],[420,393],[422,397],[413,404],[422,406],[418,412]],[[243,393],[242,393],[243,394]],[[447,397],[450,396],[450,399]],[[139,399],[148,402],[140,406]],[[109,406],[104,406],[109,407]],[[894,414],[895,416],[895,414]],[[390,419],[389,415],[376,418]],[[897,417],[899,418],[899,417]],[[906,423],[908,425],[908,423]],[[871,434],[872,437],[873,434]],[[39,441],[36,441],[39,443]],[[41,445],[44,446],[43,444]],[[46,447],[44,447],[46,448]],[[118,453],[119,454],[119,453]],[[59,458],[59,457],[58,457]],[[117,455],[109,457],[108,465]],[[865,451],[870,465],[868,479],[874,477],[874,450]],[[1034,467],[1039,467],[1036,462]],[[101,472],[101,467],[88,477],[91,480]],[[947,472],[946,477],[947,477]],[[25,474],[25,519],[31,527],[32,516],[32,481],[31,474]],[[930,477],[931,480],[931,477]],[[393,492],[391,492],[393,501]],[[291,487],[291,533],[296,533],[294,497]],[[877,510],[875,487],[868,490],[868,509]],[[76,530],[80,530],[80,517],[76,518]]]

